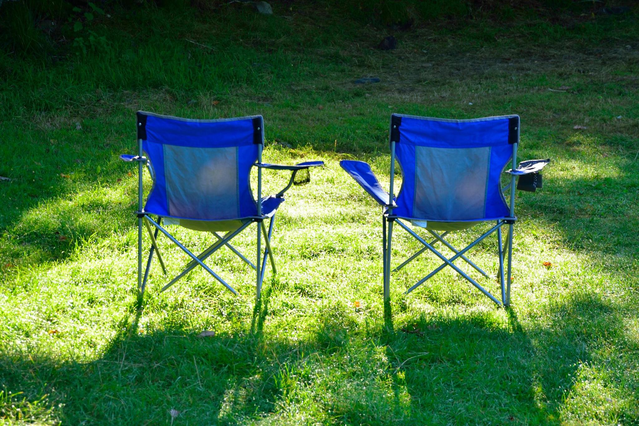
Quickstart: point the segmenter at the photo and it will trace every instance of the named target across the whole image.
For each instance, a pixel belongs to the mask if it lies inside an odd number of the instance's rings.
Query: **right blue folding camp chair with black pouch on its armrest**
[[[383,284],[384,298],[390,295],[390,254],[393,225],[397,224],[424,247],[393,271],[398,271],[426,250],[430,250],[443,263],[410,287],[410,293],[419,285],[450,266],[475,285],[497,305],[508,306],[511,299],[512,231],[517,218],[514,214],[515,176],[523,176],[519,187],[534,191],[541,187],[539,171],[550,160],[530,160],[514,169],[520,135],[519,116],[488,117],[470,120],[449,120],[392,114],[390,119],[390,194],[365,162],[344,160],[340,164],[359,185],[382,206],[383,223]],[[501,174],[511,161],[513,169],[510,183],[502,188]],[[397,198],[394,195],[395,160],[403,176]],[[504,192],[509,190],[510,202]],[[391,202],[392,200],[392,202]],[[426,229],[435,239],[426,241],[404,224]],[[481,222],[495,225],[463,250],[453,247],[443,237],[449,232],[472,227]],[[502,245],[502,226],[509,231]],[[444,231],[441,233],[440,231]],[[473,263],[466,252],[497,231],[499,280],[501,301],[490,294],[477,281],[462,271],[454,261],[463,259],[484,277],[488,274]],[[433,247],[440,242],[454,255],[450,258]],[[507,279],[504,278],[504,252],[508,251]]]

